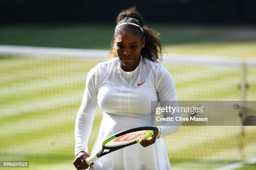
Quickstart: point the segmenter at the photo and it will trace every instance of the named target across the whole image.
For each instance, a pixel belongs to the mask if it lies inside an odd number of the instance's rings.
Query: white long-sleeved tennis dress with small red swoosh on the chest
[[[118,57],[99,63],[86,78],[86,88],[75,125],[75,154],[88,152],[87,142],[92,129],[95,109],[100,105],[102,121],[92,153],[102,148],[105,138],[141,126],[155,125],[156,104],[151,101],[177,101],[172,76],[161,64],[142,60],[132,72],[120,68]],[[151,109],[154,108],[154,109]],[[179,116],[164,113],[164,117]],[[179,123],[163,122],[161,137],[174,133]],[[140,144],[109,153],[95,161],[94,170],[171,170],[162,138],[146,148]]]

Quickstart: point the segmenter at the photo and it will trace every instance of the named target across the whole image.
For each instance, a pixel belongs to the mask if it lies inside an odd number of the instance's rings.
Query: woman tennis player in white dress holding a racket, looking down
[[[158,63],[163,49],[159,34],[144,25],[136,7],[121,11],[116,23],[110,60],[92,68],[86,78],[75,124],[73,164],[77,170],[89,166],[94,170],[170,170],[162,137],[177,131],[179,122],[163,122],[156,127],[157,133],[141,140],[141,145],[109,153],[93,165],[85,161],[90,156],[87,142],[97,105],[102,109],[102,121],[92,154],[102,148],[105,138],[115,133],[155,125],[156,105],[152,106],[151,101],[159,101],[161,107],[166,105],[163,101],[177,101],[172,76]],[[176,117],[179,113],[164,112],[164,117],[168,116]]]

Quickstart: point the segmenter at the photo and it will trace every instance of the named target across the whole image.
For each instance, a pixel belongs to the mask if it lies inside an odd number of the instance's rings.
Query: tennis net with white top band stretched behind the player
[[[104,50],[0,46],[0,156],[73,158],[85,78],[107,55]],[[166,54],[162,64],[174,78],[178,100],[256,100],[255,60]],[[100,112],[97,108],[90,150]],[[256,157],[254,126],[182,126],[164,141],[171,161]]]

